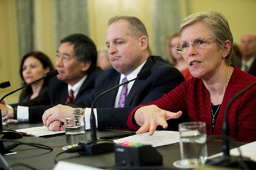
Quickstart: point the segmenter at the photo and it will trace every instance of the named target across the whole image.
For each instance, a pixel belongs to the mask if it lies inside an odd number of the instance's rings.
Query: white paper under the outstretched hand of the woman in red
[[[141,144],[149,144],[152,145],[152,147],[157,147],[180,142],[180,132],[156,130],[152,136],[149,136],[148,132],[146,132],[143,134],[135,134],[133,136],[116,139],[113,141],[115,143],[121,144],[124,140]]]

